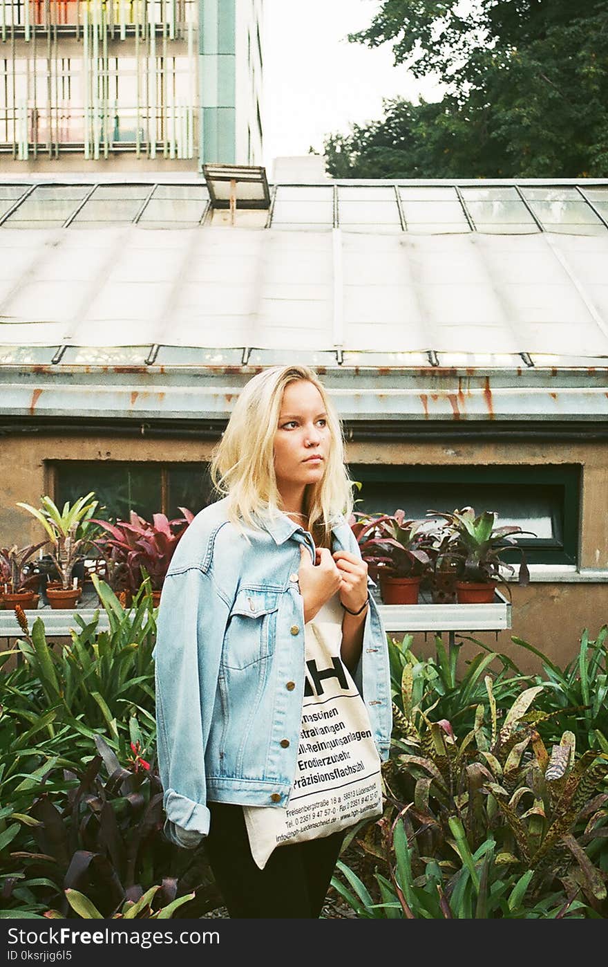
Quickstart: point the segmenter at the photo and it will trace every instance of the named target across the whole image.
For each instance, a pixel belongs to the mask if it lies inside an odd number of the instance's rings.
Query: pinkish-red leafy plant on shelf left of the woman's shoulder
[[[160,601],[160,590],[169,569],[175,548],[194,514],[181,507],[183,517],[169,520],[164,513],[153,514],[152,523],[130,512],[130,520],[110,523],[97,520],[107,537],[95,542],[107,565],[112,589],[125,592],[127,598],[136,593],[142,580],[150,577],[155,606]]]

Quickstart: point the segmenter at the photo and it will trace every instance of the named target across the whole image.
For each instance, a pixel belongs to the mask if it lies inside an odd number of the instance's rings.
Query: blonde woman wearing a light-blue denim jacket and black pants
[[[201,836],[231,917],[319,916],[342,835],[253,862],[244,807],[284,808],[296,772],[304,626],[338,602],[341,659],[378,753],[391,740],[386,635],[343,513],[342,436],[316,374],[275,366],[239,396],[212,464],[225,496],[178,545],[159,607],[157,721],[165,833]]]

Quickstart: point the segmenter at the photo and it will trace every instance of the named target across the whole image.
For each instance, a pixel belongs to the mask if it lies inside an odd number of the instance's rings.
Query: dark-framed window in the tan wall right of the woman
[[[351,464],[351,477],[362,483],[356,511],[393,513],[402,508],[408,517],[426,512],[451,513],[474,507],[476,513],[496,511],[498,524],[518,524],[536,537],[525,536],[531,564],[576,564],[580,467],[513,466],[375,466]],[[509,551],[507,562],[520,555]]]

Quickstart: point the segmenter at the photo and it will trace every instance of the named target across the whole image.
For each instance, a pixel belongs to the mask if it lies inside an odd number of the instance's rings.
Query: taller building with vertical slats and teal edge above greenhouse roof
[[[261,0],[0,0],[0,171],[260,163]]]

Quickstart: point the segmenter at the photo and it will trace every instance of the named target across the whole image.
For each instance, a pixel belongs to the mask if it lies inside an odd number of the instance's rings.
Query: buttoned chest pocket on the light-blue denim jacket
[[[243,588],[230,609],[223,642],[227,668],[246,668],[275,651],[278,592]]]

